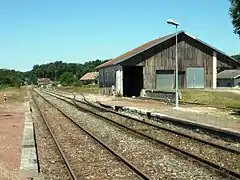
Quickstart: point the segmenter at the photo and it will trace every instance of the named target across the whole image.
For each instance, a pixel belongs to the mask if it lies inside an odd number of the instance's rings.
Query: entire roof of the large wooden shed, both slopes
[[[214,51],[216,51],[216,52],[218,52],[218,53],[221,53],[221,54],[223,54],[224,56],[227,56],[227,57],[230,58],[231,60],[233,60],[233,61],[235,61],[236,63],[238,63],[238,64],[239,64],[239,67],[240,67],[240,62],[238,62],[236,59],[232,58],[231,56],[228,56],[228,55],[225,54],[224,52],[222,52],[222,51],[214,48],[213,46],[211,46],[211,45],[209,45],[209,44],[201,41],[200,39],[198,39],[198,38],[196,38],[196,37],[194,37],[194,36],[192,36],[192,35],[184,32],[184,31],[179,31],[179,32],[178,32],[178,35],[181,34],[181,33],[184,33],[185,35],[187,35],[187,36],[195,39],[196,41],[204,44],[205,46],[208,46],[209,48],[213,49]],[[150,49],[151,47],[154,47],[154,46],[156,46],[156,45],[158,45],[158,44],[160,44],[160,43],[162,43],[162,42],[164,42],[164,41],[166,41],[166,40],[168,40],[168,39],[170,39],[170,38],[172,38],[172,37],[174,37],[174,36],[175,36],[175,33],[169,34],[169,35],[167,35],[167,36],[163,36],[163,37],[160,37],[160,38],[157,38],[157,39],[154,39],[154,40],[152,40],[152,41],[149,41],[149,42],[147,42],[147,43],[145,43],[145,44],[143,44],[143,45],[141,45],[141,46],[139,46],[139,47],[137,47],[137,48],[135,48],[135,49],[133,49],[133,50],[131,50],[131,51],[128,51],[128,52],[122,54],[121,56],[118,56],[118,57],[115,58],[115,59],[112,59],[112,60],[110,60],[110,61],[107,61],[107,62],[105,62],[105,63],[97,66],[96,69],[100,69],[100,68],[103,68],[103,67],[108,67],[108,66],[116,65],[116,64],[118,64],[118,63],[120,63],[120,62],[122,62],[122,61],[125,61],[125,60],[127,60],[127,59],[129,59],[129,58],[131,58],[131,57],[133,57],[133,56],[135,56],[135,55],[137,55],[137,54],[139,54],[139,53],[147,50],[147,49]]]

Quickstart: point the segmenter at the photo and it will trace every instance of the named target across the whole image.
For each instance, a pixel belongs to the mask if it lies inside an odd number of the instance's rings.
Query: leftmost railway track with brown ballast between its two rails
[[[50,123],[48,123],[46,118],[45,122],[48,124],[47,126],[51,132],[51,136],[57,144],[58,150],[68,167],[72,179],[89,179],[93,178],[93,176],[95,176],[95,179],[117,179],[118,176],[127,179],[150,179],[148,175],[139,170],[138,167],[122,157],[118,152],[111,149],[94,134],[81,127],[59,108],[52,105],[48,99],[40,94],[38,95],[44,100],[44,102],[47,102],[48,105],[58,111],[65,119],[60,125],[53,125],[54,123],[49,125]],[[45,111],[48,110],[45,109]],[[46,113],[50,114],[52,113],[52,110]],[[44,116],[42,117],[44,118]],[[56,120],[59,123],[61,118],[58,117]],[[62,130],[51,130],[54,126],[60,126],[60,129]],[[77,131],[78,134],[74,135]],[[81,133],[79,133],[79,131],[81,131]],[[62,137],[60,138],[61,134]],[[91,144],[91,146],[89,146],[89,144]],[[71,148],[67,146],[71,146]],[[79,149],[79,147],[82,147],[82,149]],[[74,156],[73,159],[71,152],[78,153],[76,150],[81,151],[81,154]],[[94,154],[96,154],[95,157]],[[105,177],[103,174],[105,174]],[[108,177],[108,174],[112,174],[111,177]]]

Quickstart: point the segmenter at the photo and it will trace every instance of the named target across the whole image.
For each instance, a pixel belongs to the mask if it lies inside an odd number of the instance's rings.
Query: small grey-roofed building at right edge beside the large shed
[[[224,70],[217,75],[218,87],[240,87],[240,70]]]

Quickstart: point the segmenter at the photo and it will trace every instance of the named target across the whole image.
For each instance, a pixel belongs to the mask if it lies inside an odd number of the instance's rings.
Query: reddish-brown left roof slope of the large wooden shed
[[[178,34],[180,34],[182,32],[183,31],[179,31]],[[118,56],[115,59],[112,59],[110,61],[107,61],[107,62],[99,65],[98,67],[96,67],[96,69],[116,65],[116,64],[118,64],[118,63],[120,63],[120,62],[122,62],[126,59],[129,59],[129,58],[131,58],[131,57],[133,57],[133,56],[135,56],[135,55],[137,55],[137,54],[139,54],[139,53],[141,53],[141,52],[143,52],[143,51],[145,51],[145,50],[147,50],[147,49],[149,49],[153,46],[156,46],[156,45],[160,44],[163,41],[166,41],[167,39],[169,39],[173,36],[175,36],[175,33],[169,34],[167,36],[163,36],[163,37],[160,37],[160,38],[157,38],[157,39],[154,39],[152,41],[149,41],[149,42],[147,42],[147,43],[145,43],[145,44],[143,44],[143,45],[141,45],[141,46],[139,46],[139,47],[137,47],[137,48],[135,48],[131,51],[128,51],[128,52],[122,54],[121,56]]]

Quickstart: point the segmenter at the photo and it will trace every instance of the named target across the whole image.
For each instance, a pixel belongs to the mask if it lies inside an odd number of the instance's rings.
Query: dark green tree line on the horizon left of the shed
[[[20,72],[15,70],[0,69],[0,88],[18,86],[23,84],[36,84],[38,78],[50,78],[60,81],[63,85],[79,84],[79,79],[87,72],[108,60],[94,60],[81,63],[65,63],[55,61],[47,64],[34,65],[32,70]]]

